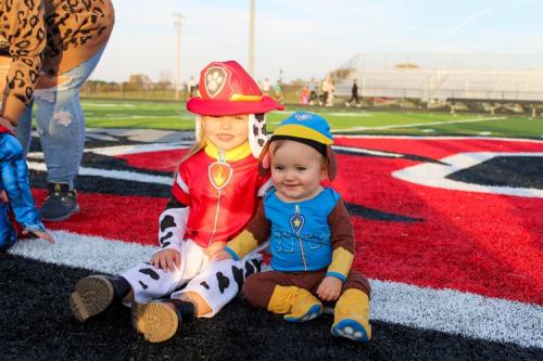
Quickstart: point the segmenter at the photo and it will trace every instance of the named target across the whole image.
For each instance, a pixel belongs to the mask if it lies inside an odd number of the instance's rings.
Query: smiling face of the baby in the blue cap
[[[324,157],[315,149],[295,141],[270,144],[272,179],[277,195],[285,202],[300,202],[316,196],[326,177]]]

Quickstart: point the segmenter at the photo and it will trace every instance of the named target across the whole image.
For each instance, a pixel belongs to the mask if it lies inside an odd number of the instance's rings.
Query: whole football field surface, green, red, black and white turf
[[[130,310],[76,321],[79,278],[148,261],[173,172],[192,141],[185,104],[85,101],[77,178],[81,211],[0,255],[0,360],[541,360],[543,118],[296,107],[325,116],[355,233],[352,269],[371,283],[372,340],[330,335],[333,315],[303,324],[242,296],[153,345]],[[188,131],[187,131],[188,130]],[[35,134],[37,136],[37,133]],[[46,197],[37,137],[27,156]],[[213,341],[212,336],[222,339]]]

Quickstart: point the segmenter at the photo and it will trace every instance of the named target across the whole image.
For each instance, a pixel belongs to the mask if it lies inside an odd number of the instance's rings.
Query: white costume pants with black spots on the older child
[[[180,268],[174,272],[140,263],[121,274],[130,283],[136,302],[148,302],[167,295],[179,298],[184,293],[194,292],[212,309],[201,317],[211,318],[236,297],[247,276],[261,270],[262,255],[257,250],[239,261],[210,261],[202,247],[190,240],[168,248],[181,255]]]

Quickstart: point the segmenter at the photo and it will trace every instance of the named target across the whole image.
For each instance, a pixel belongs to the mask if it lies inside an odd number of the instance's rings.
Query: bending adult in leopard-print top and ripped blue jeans
[[[26,154],[33,105],[47,166],[48,221],[79,211],[74,181],[85,146],[79,89],[98,64],[113,29],[110,0],[0,0],[0,44],[12,60],[0,90],[0,125],[15,133]]]

